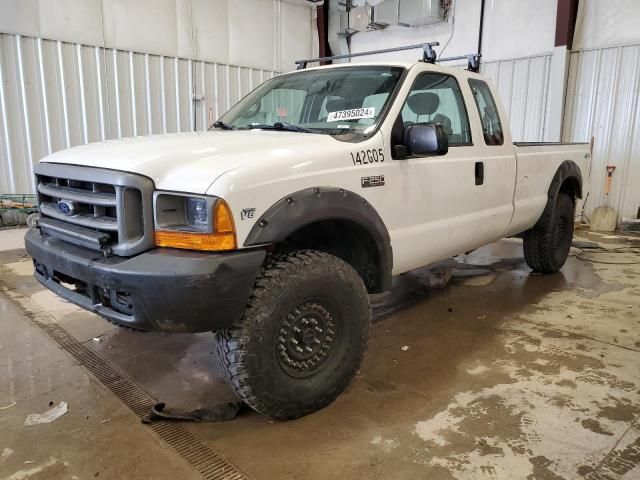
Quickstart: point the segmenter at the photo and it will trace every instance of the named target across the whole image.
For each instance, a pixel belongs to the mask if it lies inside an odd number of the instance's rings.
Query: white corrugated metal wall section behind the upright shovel
[[[606,165],[616,165],[609,206],[635,218],[640,208],[640,44],[571,53],[563,139],[594,137],[587,214],[604,202]]]

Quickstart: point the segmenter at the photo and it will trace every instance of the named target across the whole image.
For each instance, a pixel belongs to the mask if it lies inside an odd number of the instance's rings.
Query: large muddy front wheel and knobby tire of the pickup
[[[285,420],[331,402],[357,372],[371,306],[358,273],[314,250],[267,257],[242,318],[216,332],[226,380],[251,408]]]

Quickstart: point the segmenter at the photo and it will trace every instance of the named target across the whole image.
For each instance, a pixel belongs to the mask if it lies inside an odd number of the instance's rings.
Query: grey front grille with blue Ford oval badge
[[[35,167],[39,227],[115,255],[153,246],[153,182],[111,170],[41,163]]]

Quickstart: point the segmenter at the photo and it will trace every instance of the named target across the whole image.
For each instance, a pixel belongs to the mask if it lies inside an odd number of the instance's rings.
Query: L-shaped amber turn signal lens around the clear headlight
[[[156,246],[218,252],[235,250],[236,232],[229,206],[217,200],[213,207],[213,233],[156,230]]]

